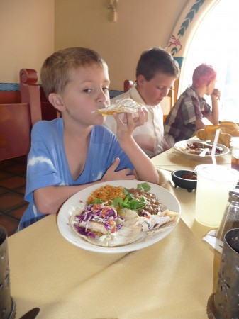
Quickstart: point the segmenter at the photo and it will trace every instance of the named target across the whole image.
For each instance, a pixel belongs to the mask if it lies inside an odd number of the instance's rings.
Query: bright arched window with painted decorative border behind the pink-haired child
[[[182,67],[177,96],[191,84],[195,67],[209,63],[218,72],[220,119],[239,123],[238,9],[238,0],[189,1],[174,28],[168,50]]]

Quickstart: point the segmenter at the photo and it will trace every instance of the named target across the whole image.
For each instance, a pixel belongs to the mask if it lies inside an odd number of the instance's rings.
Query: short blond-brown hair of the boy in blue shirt
[[[106,64],[94,50],[85,47],[69,47],[50,55],[40,71],[40,79],[45,96],[50,93],[62,93],[70,81],[72,73],[78,67]]]

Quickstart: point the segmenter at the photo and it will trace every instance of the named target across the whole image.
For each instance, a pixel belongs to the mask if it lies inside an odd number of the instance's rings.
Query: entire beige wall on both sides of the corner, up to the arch
[[[0,83],[18,83],[22,68],[40,67],[53,51],[71,46],[98,51],[109,65],[111,89],[135,79],[140,53],[166,47],[188,0],[0,0]]]

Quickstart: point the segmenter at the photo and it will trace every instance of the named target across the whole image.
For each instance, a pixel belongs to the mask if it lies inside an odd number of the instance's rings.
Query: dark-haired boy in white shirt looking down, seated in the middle
[[[153,157],[168,145],[164,138],[163,113],[160,102],[179,77],[179,65],[169,52],[152,48],[142,53],[136,68],[135,85],[126,93],[111,99],[111,104],[121,98],[130,98],[144,104],[148,109],[148,122],[135,128],[133,138],[141,149]],[[107,116],[106,127],[116,133],[117,123],[113,116]]]

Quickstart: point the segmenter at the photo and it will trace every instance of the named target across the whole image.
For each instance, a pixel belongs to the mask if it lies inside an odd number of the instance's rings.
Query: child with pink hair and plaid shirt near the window
[[[215,89],[216,71],[203,63],[194,69],[192,85],[179,96],[167,116],[164,128],[169,145],[187,140],[206,124],[218,124],[220,91]],[[204,95],[211,96],[211,106]]]

